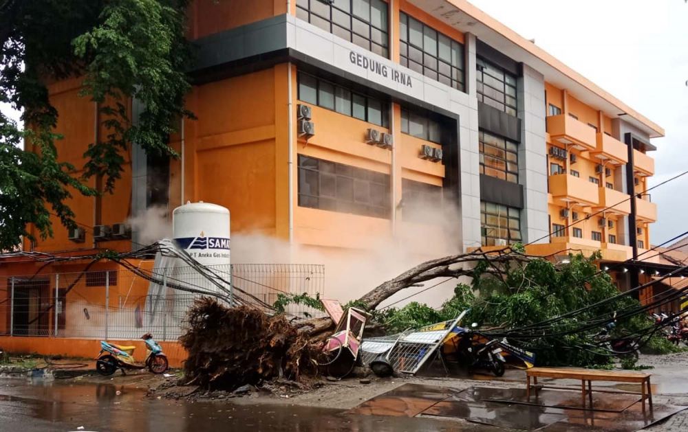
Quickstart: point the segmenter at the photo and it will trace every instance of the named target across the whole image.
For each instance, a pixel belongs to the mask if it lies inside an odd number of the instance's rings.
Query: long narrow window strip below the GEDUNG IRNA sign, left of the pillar
[[[299,100],[389,128],[389,103],[299,72]]]

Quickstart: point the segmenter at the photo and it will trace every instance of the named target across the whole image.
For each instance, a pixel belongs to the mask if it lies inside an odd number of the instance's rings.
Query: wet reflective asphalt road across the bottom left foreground
[[[143,391],[110,383],[0,380],[0,431],[494,430],[442,420],[351,416],[342,412],[290,405],[157,400],[146,398]]]

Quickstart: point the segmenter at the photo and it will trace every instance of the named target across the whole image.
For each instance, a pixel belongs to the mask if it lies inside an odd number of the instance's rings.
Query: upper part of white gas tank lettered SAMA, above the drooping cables
[[[228,209],[203,201],[187,202],[172,214],[175,243],[208,266],[230,264],[229,224]]]

